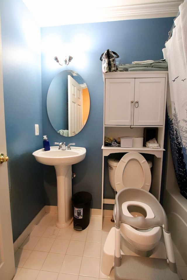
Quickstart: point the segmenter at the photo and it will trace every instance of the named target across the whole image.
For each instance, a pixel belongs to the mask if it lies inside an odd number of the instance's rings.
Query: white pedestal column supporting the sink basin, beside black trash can
[[[57,209],[59,228],[68,227],[72,222],[72,166],[56,165]]]

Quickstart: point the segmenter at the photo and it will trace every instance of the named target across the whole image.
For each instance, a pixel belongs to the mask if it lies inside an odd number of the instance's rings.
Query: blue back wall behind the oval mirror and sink
[[[121,63],[162,59],[162,48],[172,24],[173,18],[156,18],[41,28],[43,132],[48,135],[51,146],[55,141],[65,141],[86,148],[84,161],[72,166],[76,174],[72,185],[73,193],[83,190],[92,194],[92,208],[101,209],[102,188],[103,76],[99,58],[110,48],[120,55]],[[73,60],[68,66],[59,66],[53,57],[57,55],[63,60],[65,54],[72,55]],[[91,104],[86,125],[79,134],[69,138],[52,128],[46,111],[49,85],[56,74],[65,69],[75,70],[82,76]],[[44,170],[46,203],[57,205],[54,168],[44,167]],[[108,197],[112,195],[109,185]]]

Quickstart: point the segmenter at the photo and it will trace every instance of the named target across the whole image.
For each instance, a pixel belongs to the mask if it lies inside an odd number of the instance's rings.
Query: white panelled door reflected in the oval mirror
[[[68,130],[69,136],[82,129],[82,87],[68,75]]]

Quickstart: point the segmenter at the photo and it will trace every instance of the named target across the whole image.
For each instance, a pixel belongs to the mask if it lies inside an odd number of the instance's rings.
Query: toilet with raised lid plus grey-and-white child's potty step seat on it
[[[152,163],[136,152],[125,154],[121,160],[108,159],[109,181],[117,195],[113,211],[115,227],[111,228],[105,240],[101,272],[110,275],[115,267],[115,279],[122,279],[127,270],[134,273],[137,264],[140,264],[142,273],[146,264],[148,269],[155,269],[159,258],[161,262],[165,259],[166,264],[175,266],[175,272],[167,271],[168,275],[177,273],[167,216],[158,200],[149,193],[151,167]],[[162,230],[165,246],[160,241]],[[130,264],[129,260],[132,260]],[[161,266],[157,266],[157,271],[160,272]],[[169,265],[167,269],[170,270]]]

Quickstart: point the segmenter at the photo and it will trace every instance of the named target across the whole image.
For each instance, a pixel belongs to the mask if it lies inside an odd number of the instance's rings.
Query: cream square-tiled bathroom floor
[[[101,218],[92,216],[81,232],[73,224],[57,228],[56,219],[56,214],[46,213],[22,243],[15,253],[13,280],[114,279],[113,270],[110,276],[100,270],[104,242],[114,226],[110,218],[104,218],[100,230]],[[187,266],[175,247],[174,253],[181,279],[187,280]]]

